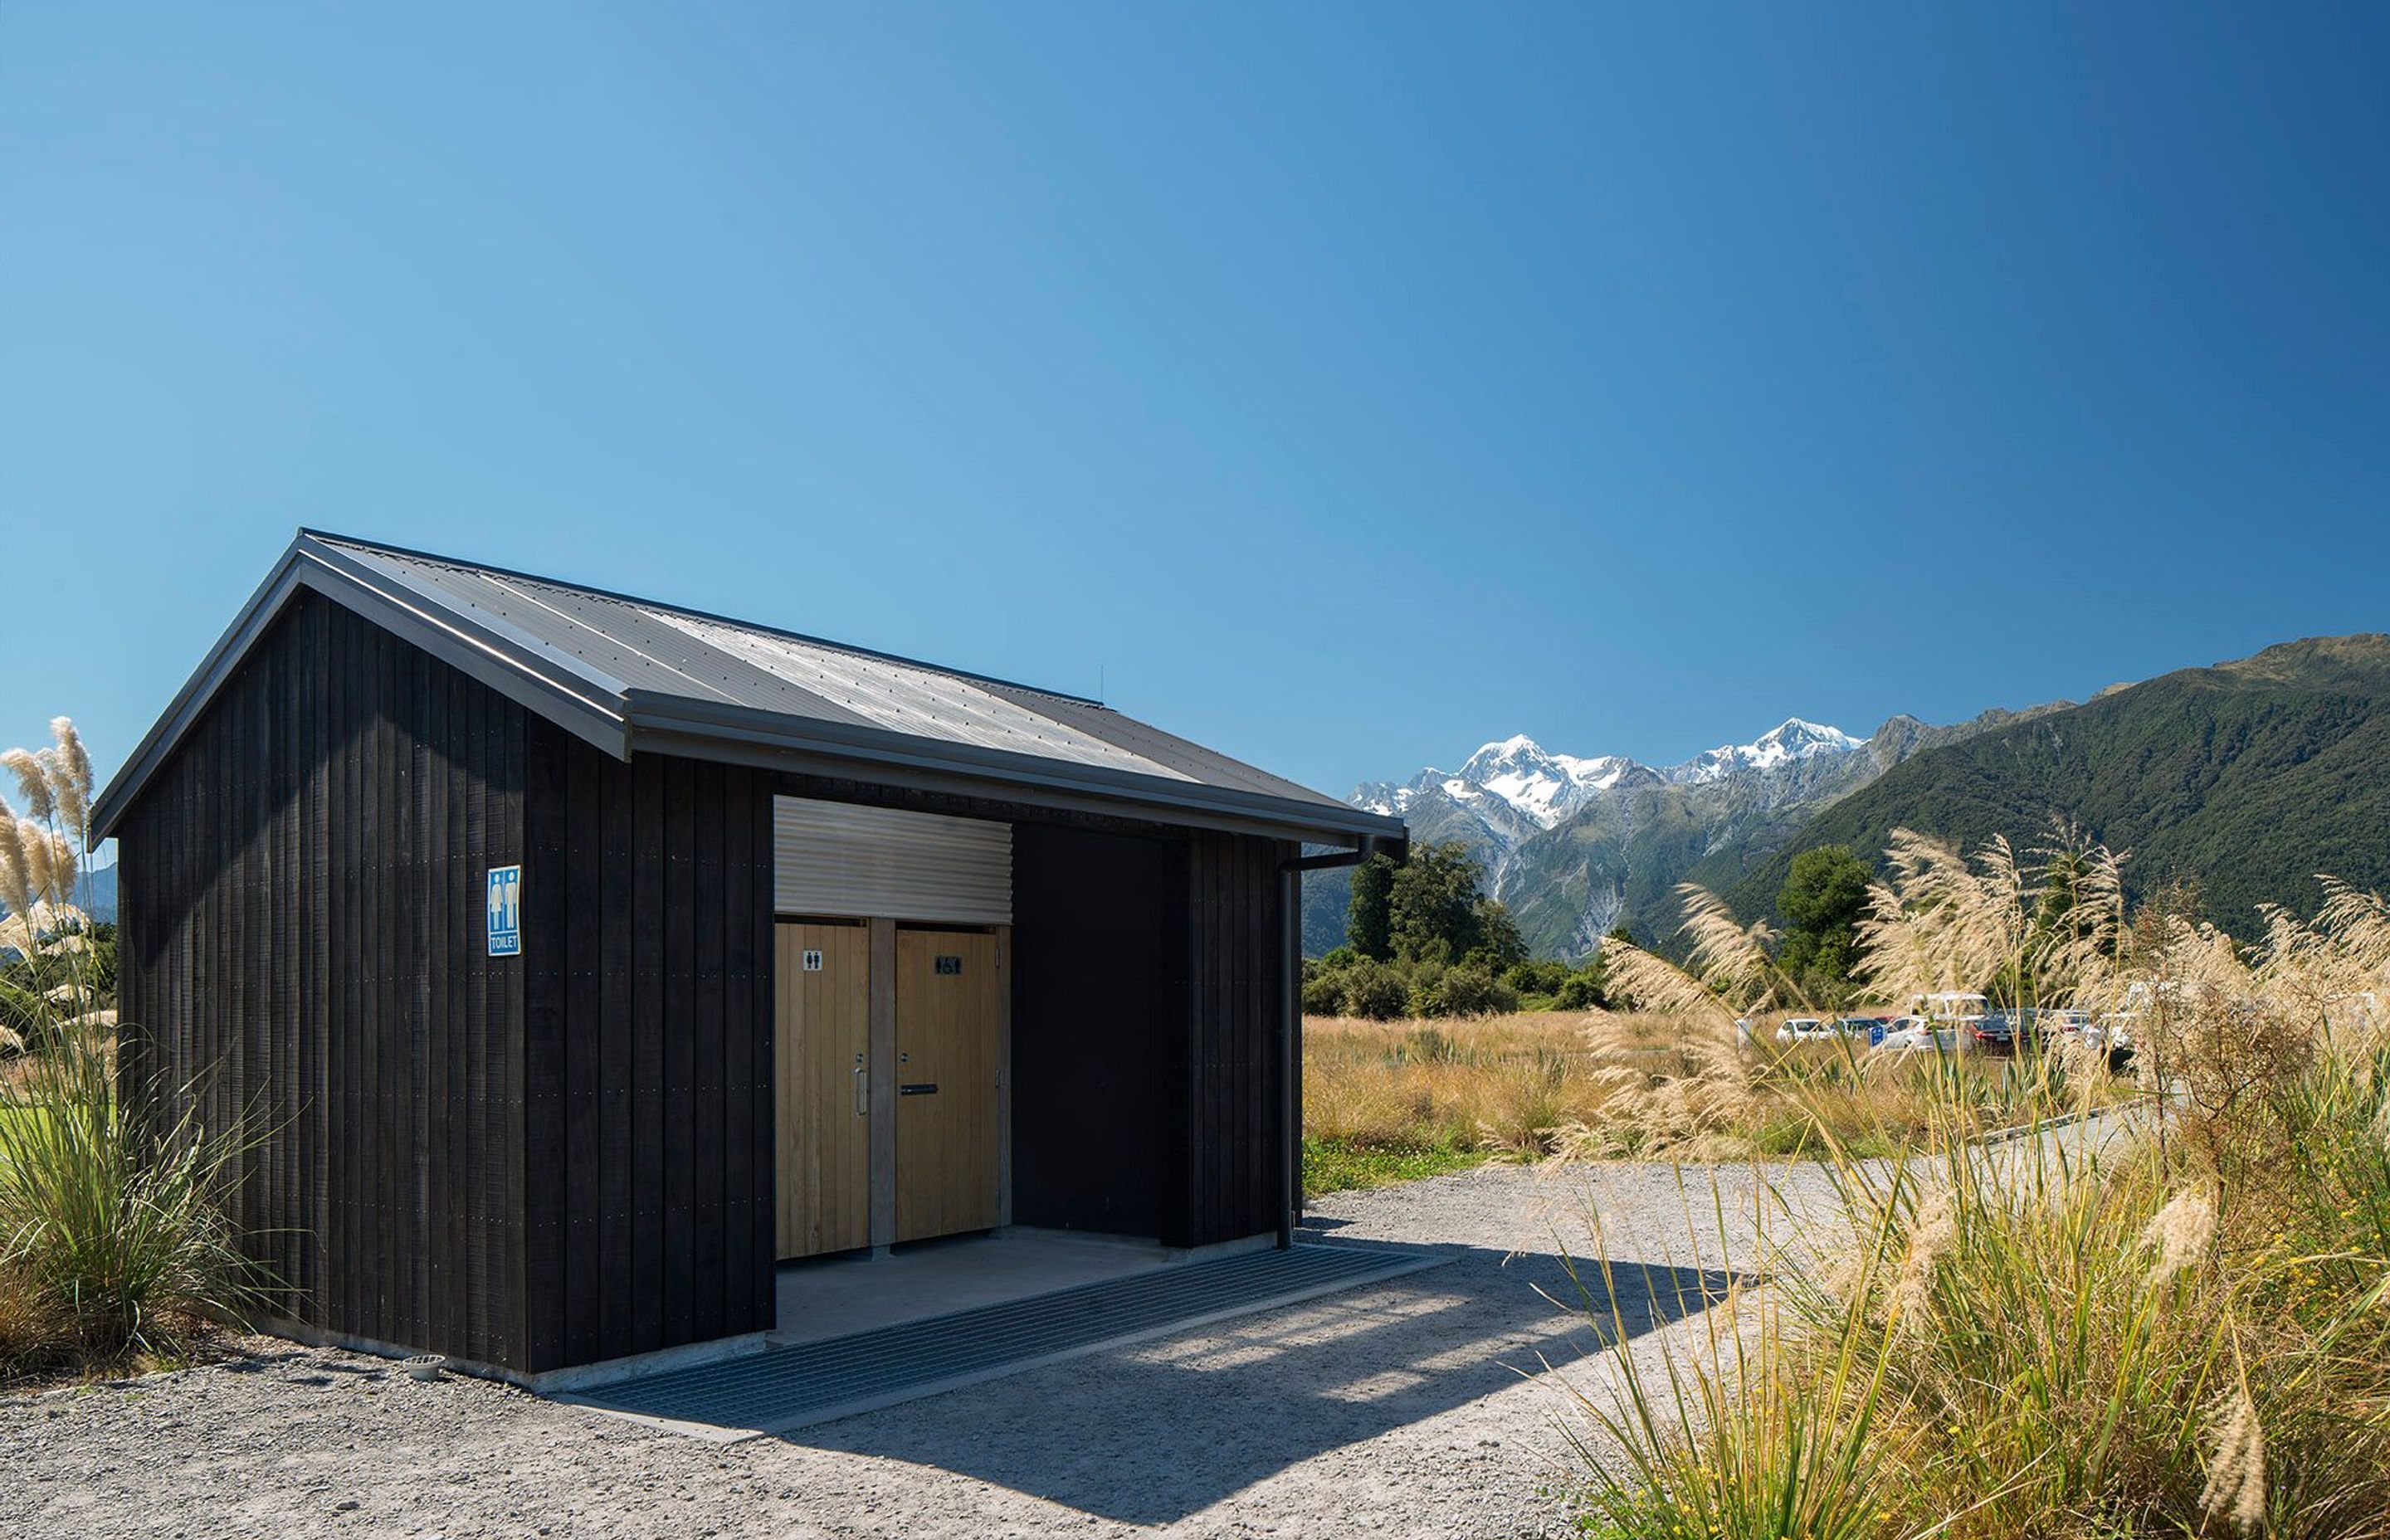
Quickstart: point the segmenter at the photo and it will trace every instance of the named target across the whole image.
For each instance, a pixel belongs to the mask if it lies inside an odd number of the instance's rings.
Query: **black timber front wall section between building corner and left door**
[[[521,1368],[772,1327],[765,775],[526,727]]]

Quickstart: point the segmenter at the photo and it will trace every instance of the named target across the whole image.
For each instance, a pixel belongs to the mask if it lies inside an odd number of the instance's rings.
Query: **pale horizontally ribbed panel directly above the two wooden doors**
[[[1013,825],[844,801],[772,799],[779,913],[1013,923]]]

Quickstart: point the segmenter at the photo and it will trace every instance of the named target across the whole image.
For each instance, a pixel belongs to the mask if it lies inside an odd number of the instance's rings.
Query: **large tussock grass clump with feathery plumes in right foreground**
[[[2077,849],[2096,913],[2020,923],[2051,866],[1902,837],[1879,966],[2134,1002],[2151,1100],[2110,1138],[1986,1145],[1974,1088],[1934,1078],[1888,1160],[1816,1102],[1833,1200],[1761,1198],[1766,1282],[1580,1387],[1585,1530],[2390,1535],[2390,906],[2330,885],[2239,947],[2168,904],[2122,923]]]

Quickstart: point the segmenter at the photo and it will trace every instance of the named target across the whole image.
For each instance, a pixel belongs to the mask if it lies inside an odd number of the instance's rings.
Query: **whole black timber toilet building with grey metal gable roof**
[[[1092,701],[313,531],[96,813],[120,1093],[251,1119],[277,1322],[514,1377],[770,1330],[827,1251],[1283,1243],[1298,873],[1405,839]]]

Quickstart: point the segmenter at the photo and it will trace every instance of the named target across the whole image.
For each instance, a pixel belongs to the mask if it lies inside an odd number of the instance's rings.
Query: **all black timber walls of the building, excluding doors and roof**
[[[284,607],[117,830],[122,1095],[249,1119],[234,1217],[280,1313],[526,1373],[772,1325],[774,787],[617,760]],[[1271,1229],[1295,847],[939,811],[1016,825],[1018,1217]]]

